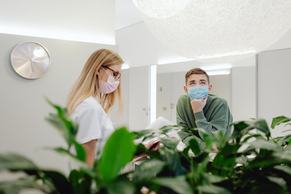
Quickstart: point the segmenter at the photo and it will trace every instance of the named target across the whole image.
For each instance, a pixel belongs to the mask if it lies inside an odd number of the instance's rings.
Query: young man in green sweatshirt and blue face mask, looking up
[[[200,148],[205,149],[205,142],[201,139],[198,131],[193,128],[200,127],[208,132],[222,131],[228,137],[231,135],[232,114],[230,113],[227,101],[219,96],[209,94],[212,85],[209,83],[209,76],[200,69],[194,68],[185,75],[185,93],[178,98],[177,102],[177,124],[193,132],[182,130],[178,132],[182,142],[189,145],[189,140],[195,138]],[[217,149],[216,146],[212,146]]]

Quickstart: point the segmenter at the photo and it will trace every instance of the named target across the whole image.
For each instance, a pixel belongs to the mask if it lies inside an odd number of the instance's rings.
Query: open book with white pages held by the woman
[[[164,126],[175,126],[177,125],[176,123],[173,123],[172,121],[169,121],[168,119],[165,119],[164,117],[159,117],[158,119],[156,119],[153,123],[151,123],[148,127],[146,127],[145,129],[160,129]],[[169,130],[166,132],[167,136],[172,135],[175,132],[178,132],[180,130]],[[142,144],[146,145],[148,144],[150,141],[153,141],[153,143],[156,143],[159,141],[159,138],[165,137],[165,134],[161,134],[161,133],[154,133],[153,135],[154,137],[149,137],[147,139],[145,139]]]

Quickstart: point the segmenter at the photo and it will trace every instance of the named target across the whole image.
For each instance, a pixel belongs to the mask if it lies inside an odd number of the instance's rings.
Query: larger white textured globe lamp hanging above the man
[[[137,0],[137,6],[143,2]],[[291,0],[189,0],[181,11],[160,11],[163,18],[142,15],[154,36],[177,54],[219,63],[249,57],[276,42],[291,27],[290,9]]]

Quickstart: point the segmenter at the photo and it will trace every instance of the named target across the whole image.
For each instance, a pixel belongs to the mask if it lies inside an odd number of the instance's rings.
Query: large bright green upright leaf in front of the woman
[[[104,181],[115,179],[135,151],[132,134],[126,128],[116,130],[107,140],[98,166]]]

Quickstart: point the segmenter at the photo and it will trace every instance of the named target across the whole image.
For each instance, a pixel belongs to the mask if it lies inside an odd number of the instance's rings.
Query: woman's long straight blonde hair
[[[72,114],[76,106],[78,106],[86,98],[93,96],[98,97],[98,101],[105,112],[108,114],[109,109],[114,105],[116,97],[118,96],[118,111],[119,118],[123,112],[123,101],[121,94],[121,80],[117,89],[109,94],[102,94],[99,92],[99,77],[97,72],[101,66],[110,67],[112,65],[121,65],[123,60],[120,56],[109,49],[96,50],[88,58],[83,70],[74,84],[67,100],[67,110]]]

